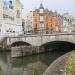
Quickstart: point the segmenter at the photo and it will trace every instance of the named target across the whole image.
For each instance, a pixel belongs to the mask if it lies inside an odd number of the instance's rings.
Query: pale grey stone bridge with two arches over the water
[[[67,41],[75,43],[75,33],[53,33],[37,35],[21,35],[15,37],[5,37],[1,40],[3,46],[12,45],[14,42],[23,41],[32,46],[41,46],[52,41]]]

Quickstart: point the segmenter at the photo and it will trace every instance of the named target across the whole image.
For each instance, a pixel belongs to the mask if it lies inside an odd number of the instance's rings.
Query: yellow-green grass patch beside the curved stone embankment
[[[75,75],[75,53],[71,54],[66,62],[66,74]]]

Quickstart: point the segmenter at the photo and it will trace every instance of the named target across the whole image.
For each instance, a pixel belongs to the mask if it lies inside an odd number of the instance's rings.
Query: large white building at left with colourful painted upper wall
[[[0,0],[0,38],[22,34],[20,0]]]

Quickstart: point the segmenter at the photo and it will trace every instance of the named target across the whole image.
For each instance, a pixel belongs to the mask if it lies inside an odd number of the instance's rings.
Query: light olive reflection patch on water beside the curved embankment
[[[26,66],[26,69],[30,70],[32,75],[42,75],[46,68],[47,66],[40,61],[27,64]]]

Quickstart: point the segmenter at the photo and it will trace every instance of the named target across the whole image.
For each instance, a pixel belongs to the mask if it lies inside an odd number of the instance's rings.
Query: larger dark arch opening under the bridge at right
[[[43,47],[45,51],[71,51],[75,50],[75,44],[67,41],[50,41],[40,46]]]

